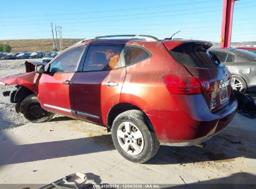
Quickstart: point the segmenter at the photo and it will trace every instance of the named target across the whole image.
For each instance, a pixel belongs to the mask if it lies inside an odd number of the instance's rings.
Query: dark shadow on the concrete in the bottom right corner
[[[256,187],[256,175],[250,173],[235,173],[229,177],[216,178],[206,181],[199,181],[196,183],[186,183],[184,185],[160,185],[161,188],[172,188],[172,189],[183,189],[183,188],[192,188],[192,189],[202,189],[202,188],[255,188]]]

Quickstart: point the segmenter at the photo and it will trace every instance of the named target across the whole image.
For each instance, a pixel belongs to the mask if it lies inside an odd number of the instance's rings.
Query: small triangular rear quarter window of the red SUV
[[[141,62],[149,58],[151,54],[140,47],[125,46],[125,62],[126,65],[131,65],[136,62]]]

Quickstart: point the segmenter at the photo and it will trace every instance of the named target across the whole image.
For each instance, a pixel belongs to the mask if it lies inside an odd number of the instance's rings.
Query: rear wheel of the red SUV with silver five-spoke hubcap
[[[118,152],[131,162],[144,163],[159,149],[159,141],[149,119],[138,110],[118,115],[111,127],[111,136]]]

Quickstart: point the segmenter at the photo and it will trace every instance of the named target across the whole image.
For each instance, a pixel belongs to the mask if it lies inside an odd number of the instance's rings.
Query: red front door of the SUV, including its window
[[[39,100],[42,108],[76,118],[70,85],[74,80],[85,47],[72,48],[50,63],[39,80]]]

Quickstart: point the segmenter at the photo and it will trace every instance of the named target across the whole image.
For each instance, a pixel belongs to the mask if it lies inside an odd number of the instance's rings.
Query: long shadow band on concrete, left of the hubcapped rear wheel
[[[0,132],[0,141],[0,165],[92,154],[115,149],[110,134],[64,141],[16,145],[12,139],[4,135],[4,132]]]

